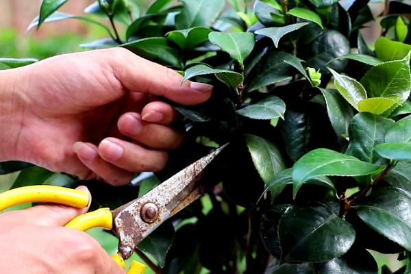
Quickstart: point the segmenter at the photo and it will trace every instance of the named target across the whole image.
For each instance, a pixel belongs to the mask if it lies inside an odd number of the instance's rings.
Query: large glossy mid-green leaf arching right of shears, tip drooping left
[[[314,149],[303,155],[292,168],[294,196],[301,185],[318,176],[361,176],[382,171],[384,166],[362,162],[357,158],[329,149]]]

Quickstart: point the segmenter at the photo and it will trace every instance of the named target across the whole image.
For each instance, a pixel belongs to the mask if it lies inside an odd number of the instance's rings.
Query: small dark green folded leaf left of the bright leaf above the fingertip
[[[181,29],[169,32],[166,37],[175,42],[180,49],[192,49],[195,46],[208,41],[208,34],[211,29],[208,27],[192,27],[191,29]]]

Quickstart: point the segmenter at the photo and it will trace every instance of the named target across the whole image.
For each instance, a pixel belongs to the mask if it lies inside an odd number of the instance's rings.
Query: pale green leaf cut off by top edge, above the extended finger
[[[225,1],[221,0],[180,0],[184,3],[181,13],[175,16],[177,29],[191,27],[211,27],[223,12]]]

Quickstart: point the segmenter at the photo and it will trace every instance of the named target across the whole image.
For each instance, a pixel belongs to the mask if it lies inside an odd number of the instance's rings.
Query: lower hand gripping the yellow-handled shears
[[[96,240],[62,227],[87,210],[42,205],[0,214],[0,273],[124,273]]]

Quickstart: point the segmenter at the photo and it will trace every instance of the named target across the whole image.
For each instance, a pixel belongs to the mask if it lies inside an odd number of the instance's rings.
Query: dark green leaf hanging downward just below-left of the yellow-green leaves
[[[349,123],[354,116],[353,110],[337,90],[326,90],[324,88],[320,88],[320,90],[327,104],[327,114],[332,128],[336,132],[337,138],[343,141],[345,140],[344,136],[348,134]]]

